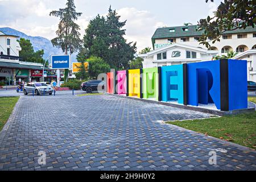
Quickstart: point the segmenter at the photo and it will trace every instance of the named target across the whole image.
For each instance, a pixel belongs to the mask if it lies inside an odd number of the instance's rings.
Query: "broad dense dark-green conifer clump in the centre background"
[[[97,15],[90,20],[84,35],[84,47],[80,50],[78,59],[90,56],[101,57],[111,68],[127,68],[129,61],[133,60],[136,52],[136,43],[126,42],[123,38],[126,21],[121,22],[115,10],[109,8],[108,15]]]

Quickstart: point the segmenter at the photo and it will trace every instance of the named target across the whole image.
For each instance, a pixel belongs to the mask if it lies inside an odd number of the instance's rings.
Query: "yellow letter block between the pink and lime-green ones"
[[[141,69],[128,70],[128,95],[142,98],[141,94]]]

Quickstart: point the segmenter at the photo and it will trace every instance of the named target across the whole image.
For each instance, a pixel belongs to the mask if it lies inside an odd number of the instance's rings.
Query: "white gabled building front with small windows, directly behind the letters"
[[[143,68],[150,68],[212,60],[217,54],[218,51],[174,43],[138,56],[143,58]]]

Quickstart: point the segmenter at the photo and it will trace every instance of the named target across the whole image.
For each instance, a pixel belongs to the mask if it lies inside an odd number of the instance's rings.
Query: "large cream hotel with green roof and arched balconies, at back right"
[[[188,46],[206,48],[199,44],[200,36],[203,31],[196,31],[196,25],[179,26],[179,27],[163,27],[157,28],[152,36],[152,44],[154,49],[166,46],[171,43],[180,43]],[[245,29],[237,29],[226,31],[221,35],[220,42],[215,42],[209,49],[218,51],[218,55],[226,55],[229,51],[244,52],[249,49],[256,48],[256,27],[246,27]]]

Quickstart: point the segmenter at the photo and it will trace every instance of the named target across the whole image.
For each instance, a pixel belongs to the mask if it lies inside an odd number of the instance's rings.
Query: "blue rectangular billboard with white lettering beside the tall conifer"
[[[69,69],[70,55],[52,56],[52,69]]]

